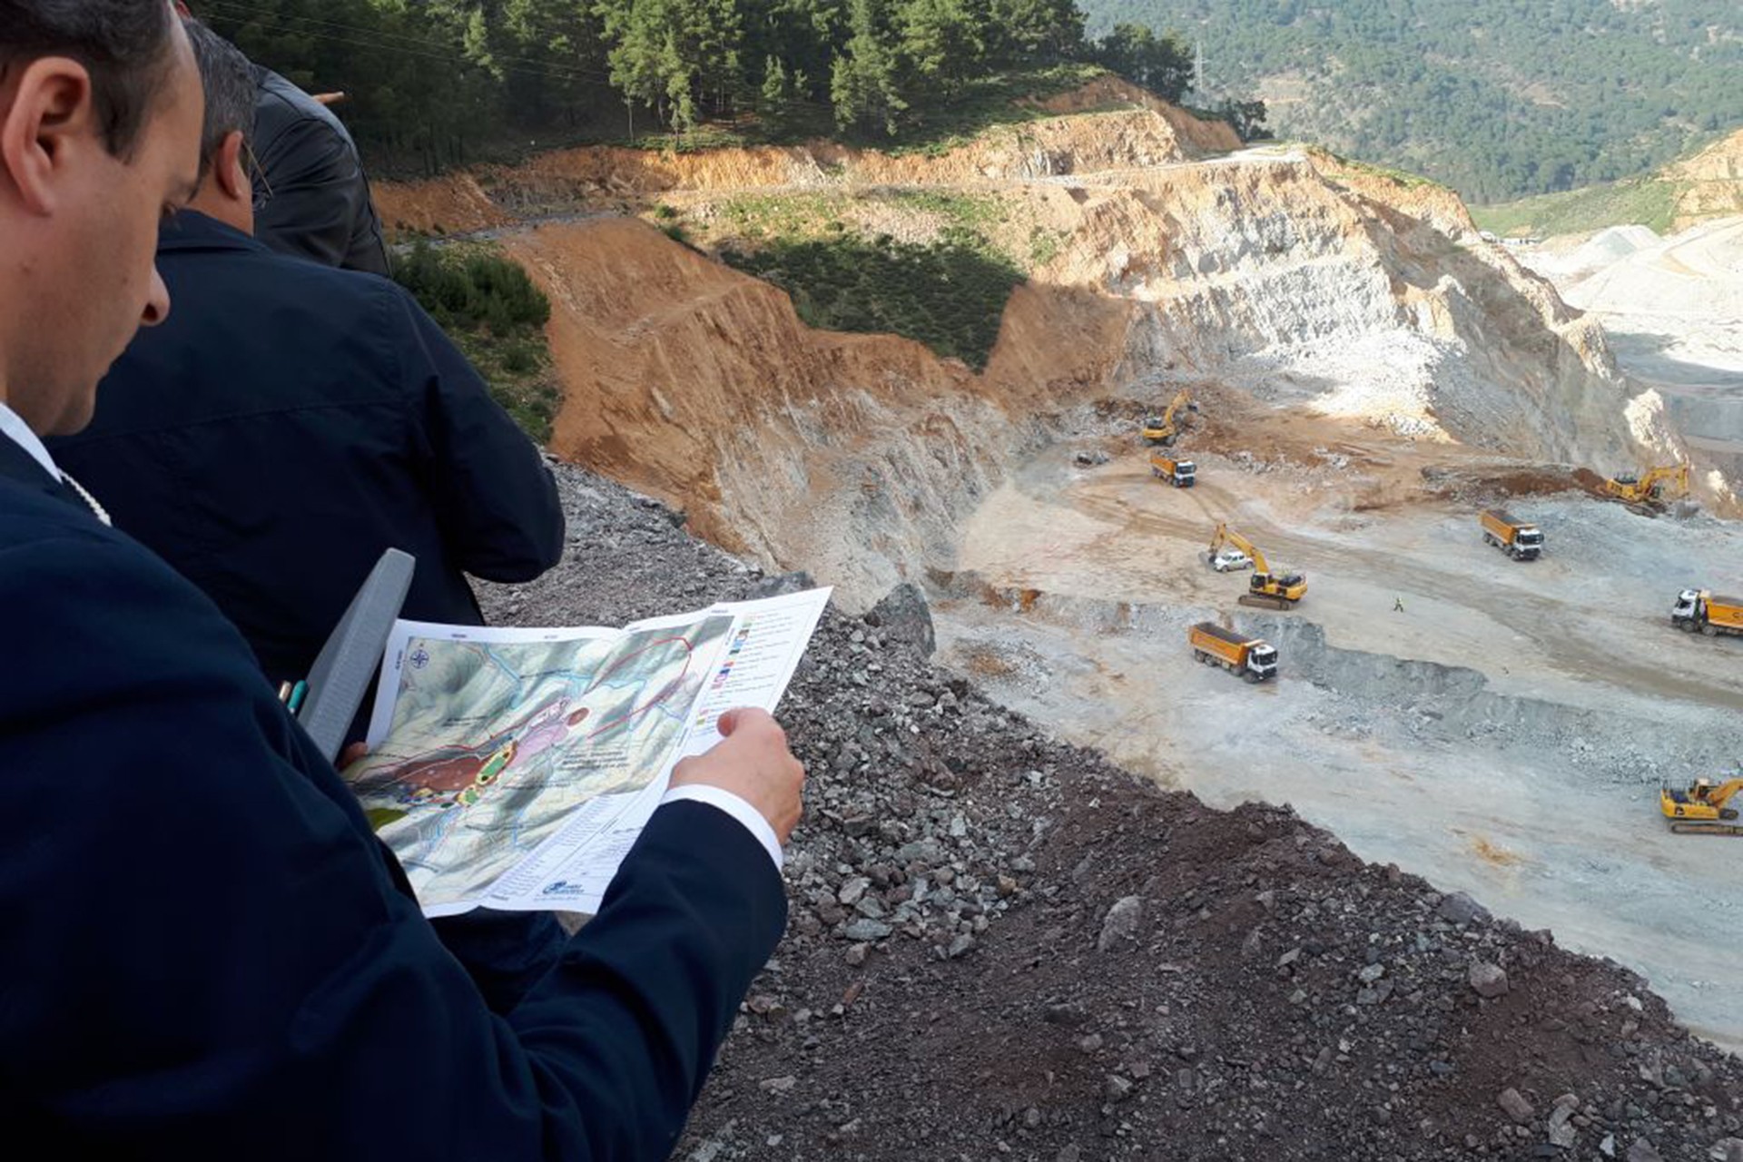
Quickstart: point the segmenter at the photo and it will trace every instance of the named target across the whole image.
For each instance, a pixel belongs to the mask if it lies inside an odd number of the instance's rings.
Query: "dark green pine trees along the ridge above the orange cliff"
[[[1084,40],[1074,0],[193,0],[251,57],[343,89],[376,160],[424,169],[528,136],[936,139],[1102,64],[1163,96],[1182,45]],[[699,129],[708,132],[699,134]]]

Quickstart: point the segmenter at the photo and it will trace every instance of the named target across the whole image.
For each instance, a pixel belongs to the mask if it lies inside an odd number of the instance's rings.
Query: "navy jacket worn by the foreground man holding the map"
[[[661,808],[493,1016],[213,606],[119,537],[3,545],[17,1134],[66,1157],[668,1157],[784,923],[743,826]]]

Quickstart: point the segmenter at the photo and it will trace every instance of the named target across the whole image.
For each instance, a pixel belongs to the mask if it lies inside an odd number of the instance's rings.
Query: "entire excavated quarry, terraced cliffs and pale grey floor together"
[[[1624,375],[1597,315],[1447,190],[1227,146],[1143,106],[939,159],[577,150],[488,190],[387,190],[383,218],[488,230],[546,289],[558,456],[849,611],[917,582],[936,660],[1060,739],[1215,807],[1290,803],[1743,1049],[1743,843],[1670,834],[1656,807],[1743,760],[1743,641],[1668,622],[1680,589],[1738,584],[1734,448],[1694,430],[1734,425],[1734,395],[1698,413],[1673,376]],[[891,190],[941,186],[1002,214],[994,242],[1056,239],[978,369],[807,328],[655,228],[804,193],[924,242],[936,223]],[[1190,490],[1136,434],[1177,387],[1203,404]],[[1699,505],[1595,495],[1595,472],[1691,455]],[[1543,559],[1483,544],[1492,503],[1544,530]],[[1218,521],[1307,573],[1300,606],[1236,605],[1245,575],[1203,563]],[[1206,618],[1276,645],[1278,681],[1192,664]]]

